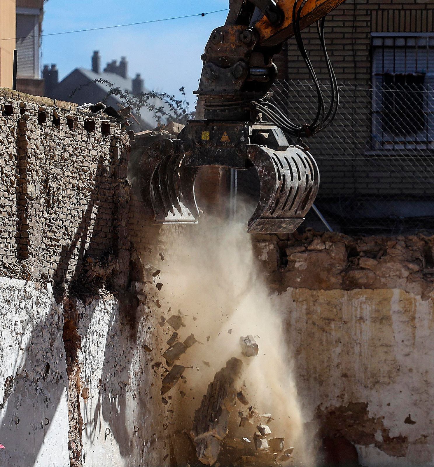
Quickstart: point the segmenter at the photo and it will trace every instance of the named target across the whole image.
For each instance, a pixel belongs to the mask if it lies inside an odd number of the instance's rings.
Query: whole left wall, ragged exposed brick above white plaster
[[[0,464],[164,465],[129,136],[101,113],[1,90],[0,140]]]

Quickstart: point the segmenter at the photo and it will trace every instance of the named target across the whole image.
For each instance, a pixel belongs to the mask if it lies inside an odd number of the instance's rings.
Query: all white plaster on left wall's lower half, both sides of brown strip
[[[1,467],[70,466],[63,306],[50,286],[37,287],[0,278]],[[160,387],[150,381],[160,349],[149,310],[140,304],[135,328],[131,310],[120,310],[110,295],[76,306],[82,338],[77,388],[87,396],[80,397],[83,464],[167,464]],[[11,377],[13,384],[5,384]]]

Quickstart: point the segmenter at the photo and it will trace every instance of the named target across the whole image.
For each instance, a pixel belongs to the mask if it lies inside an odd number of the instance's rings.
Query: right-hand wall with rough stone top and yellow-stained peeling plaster
[[[432,465],[434,238],[308,231],[257,247],[318,435],[348,439],[363,466]]]

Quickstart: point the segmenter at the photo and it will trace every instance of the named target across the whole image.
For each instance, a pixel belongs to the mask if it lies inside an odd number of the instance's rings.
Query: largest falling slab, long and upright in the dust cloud
[[[228,432],[229,414],[236,404],[235,383],[241,373],[242,361],[231,358],[214,376],[200,407],[195,412],[192,435],[197,458],[205,465],[214,465],[220,443]]]

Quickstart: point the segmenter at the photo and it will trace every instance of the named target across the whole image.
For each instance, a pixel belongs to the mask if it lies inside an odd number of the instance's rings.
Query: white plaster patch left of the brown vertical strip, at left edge
[[[1,466],[69,466],[62,333],[50,286],[0,278]]]

